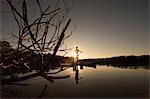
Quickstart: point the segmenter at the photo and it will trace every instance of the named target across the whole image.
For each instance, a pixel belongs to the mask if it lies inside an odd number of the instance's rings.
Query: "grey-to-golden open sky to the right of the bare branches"
[[[44,0],[43,3],[46,4]],[[76,31],[66,40],[66,45],[74,50],[78,46],[83,51],[80,59],[150,52],[148,0],[74,0],[68,17],[76,25]],[[0,39],[8,39],[3,23]],[[73,55],[74,50],[67,55]]]

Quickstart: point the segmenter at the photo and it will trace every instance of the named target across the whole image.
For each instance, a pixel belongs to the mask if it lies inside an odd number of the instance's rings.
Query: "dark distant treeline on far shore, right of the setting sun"
[[[141,56],[118,56],[118,57],[98,58],[98,59],[83,59],[80,61],[112,66],[149,66],[150,65],[149,59],[150,55],[141,55]]]

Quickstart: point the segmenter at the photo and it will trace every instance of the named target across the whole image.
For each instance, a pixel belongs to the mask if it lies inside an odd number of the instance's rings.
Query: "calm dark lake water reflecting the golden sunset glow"
[[[3,85],[2,97],[42,98],[143,98],[149,96],[150,70],[118,68],[112,66],[73,67],[50,76],[70,75],[66,79],[55,79],[54,83],[43,77],[34,77],[16,82],[23,85]],[[51,70],[55,72],[57,70]]]

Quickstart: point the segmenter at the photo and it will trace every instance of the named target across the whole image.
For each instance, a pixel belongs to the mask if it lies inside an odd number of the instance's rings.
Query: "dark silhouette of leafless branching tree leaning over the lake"
[[[5,2],[6,1],[6,2]],[[54,0],[55,2],[47,1],[48,5],[42,4],[42,0],[33,0],[36,4],[36,11],[38,14],[35,17],[31,17],[33,12],[30,6],[30,1],[20,0],[17,5],[15,0],[5,0],[4,2],[9,6],[12,12],[12,17],[17,24],[18,34],[13,34],[13,37],[17,40],[17,49],[11,53],[8,57],[18,55],[20,63],[17,63],[15,59],[12,62],[13,65],[25,65],[30,68],[28,63],[40,63],[39,72],[28,75],[25,77],[15,79],[2,79],[2,84],[8,84],[10,82],[24,80],[36,76],[42,76],[45,79],[51,81],[51,79],[68,78],[69,76],[52,77],[47,76],[45,72],[51,68],[55,63],[56,53],[72,32],[66,33],[71,19],[67,16],[71,10],[71,7],[67,5],[65,0]],[[72,1],[71,1],[72,2]],[[34,8],[34,7],[33,7]],[[9,44],[6,43],[7,46]],[[3,47],[4,48],[4,47]],[[45,53],[47,54],[45,57]],[[39,62],[40,61],[40,62]],[[31,65],[32,65],[31,64]],[[61,72],[65,69],[63,67],[58,71]]]

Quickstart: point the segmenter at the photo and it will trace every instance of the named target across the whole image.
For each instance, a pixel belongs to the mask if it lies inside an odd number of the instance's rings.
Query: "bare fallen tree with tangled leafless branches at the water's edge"
[[[19,77],[19,78],[1,79],[1,85],[13,84],[14,82],[27,80],[27,79],[37,77],[37,76],[41,76],[52,83],[54,82],[54,79],[69,78],[70,75],[48,76],[47,75],[48,73],[45,73],[47,70],[51,68],[51,66],[55,62],[54,59],[55,59],[56,53],[59,50],[60,45],[62,44],[63,40],[65,40],[72,34],[70,33],[68,36],[66,36],[65,34],[67,28],[69,27],[71,19],[69,19],[65,25],[63,24],[64,20],[67,17],[67,14],[69,13],[69,8],[66,7],[64,0],[62,1],[64,3],[65,9],[62,9],[61,7],[58,6],[58,2],[60,0],[57,0],[56,7],[53,10],[50,10],[51,4],[45,7],[45,9],[42,9],[42,5],[40,4],[40,1],[35,0],[35,3],[37,3],[38,8],[39,8],[40,15],[37,18],[33,19],[33,22],[29,22],[30,13],[28,11],[29,9],[27,8],[28,7],[27,0],[22,0],[20,4],[22,8],[19,8],[19,9],[17,9],[16,5],[13,3],[15,1],[13,0],[6,0],[6,1],[12,11],[12,15],[18,26],[18,31],[17,31],[18,34],[14,35],[18,43],[17,51],[11,53],[11,55],[15,55],[16,53],[23,53],[26,51],[26,52],[32,53],[33,57],[35,57],[38,54],[38,55],[41,55],[42,58],[41,58],[41,64],[40,64],[41,67],[39,67],[40,68],[39,72],[30,74],[27,76]],[[62,25],[64,25],[64,28],[61,31],[60,27],[62,27]],[[51,27],[53,27],[54,31],[50,31],[52,30]],[[48,35],[49,32],[51,32],[52,34],[51,36],[50,34]],[[52,51],[52,53],[49,54],[47,59],[43,60],[43,53],[47,50]],[[8,57],[11,55],[8,55]],[[26,62],[26,63],[29,63],[29,62]],[[26,65],[26,67],[28,66]],[[58,72],[55,72],[55,74],[63,70],[65,69],[60,69]]]

